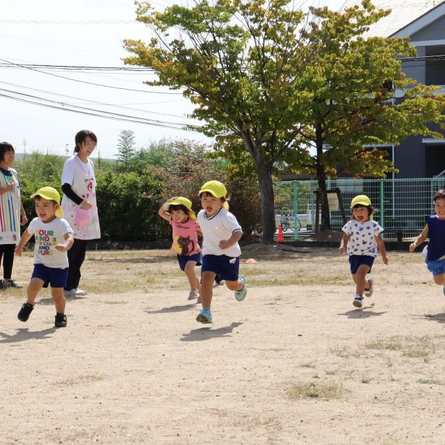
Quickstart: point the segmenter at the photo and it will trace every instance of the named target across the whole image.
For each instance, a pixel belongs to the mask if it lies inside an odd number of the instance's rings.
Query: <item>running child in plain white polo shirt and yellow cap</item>
[[[226,196],[227,190],[219,181],[206,182],[200,190],[202,210],[197,220],[203,236],[202,311],[196,317],[200,323],[212,323],[210,305],[216,275],[219,274],[226,286],[235,292],[236,300],[244,300],[247,294],[245,278],[238,275],[238,257],[241,255],[238,241],[243,230],[234,215],[227,211]]]

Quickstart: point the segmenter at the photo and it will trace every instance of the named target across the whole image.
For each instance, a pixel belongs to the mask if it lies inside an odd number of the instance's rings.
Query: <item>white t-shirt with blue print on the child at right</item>
[[[348,255],[368,255],[377,257],[378,248],[375,236],[383,232],[379,223],[374,220],[359,223],[350,220],[343,226],[343,232],[350,236],[348,241]]]

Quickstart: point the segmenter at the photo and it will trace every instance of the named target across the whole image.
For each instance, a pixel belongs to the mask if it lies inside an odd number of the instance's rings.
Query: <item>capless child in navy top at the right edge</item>
[[[410,252],[430,238],[423,249],[426,267],[432,273],[435,284],[443,286],[445,294],[445,190],[438,190],[433,199],[435,215],[425,216],[426,226],[416,241],[410,244]]]

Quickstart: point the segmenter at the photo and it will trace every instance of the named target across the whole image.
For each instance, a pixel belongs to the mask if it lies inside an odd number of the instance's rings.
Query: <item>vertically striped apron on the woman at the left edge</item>
[[[20,241],[20,184],[17,172],[10,168],[12,176],[0,170],[0,188],[15,184],[13,190],[0,195],[0,244],[17,244]]]

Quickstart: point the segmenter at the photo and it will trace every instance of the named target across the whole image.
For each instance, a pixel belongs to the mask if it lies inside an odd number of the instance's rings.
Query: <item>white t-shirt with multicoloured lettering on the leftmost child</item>
[[[67,220],[55,218],[51,223],[44,223],[34,218],[28,226],[28,233],[34,235],[34,264],[43,264],[52,268],[67,268],[67,252],[59,252],[55,246],[65,243],[65,235],[72,233]]]

